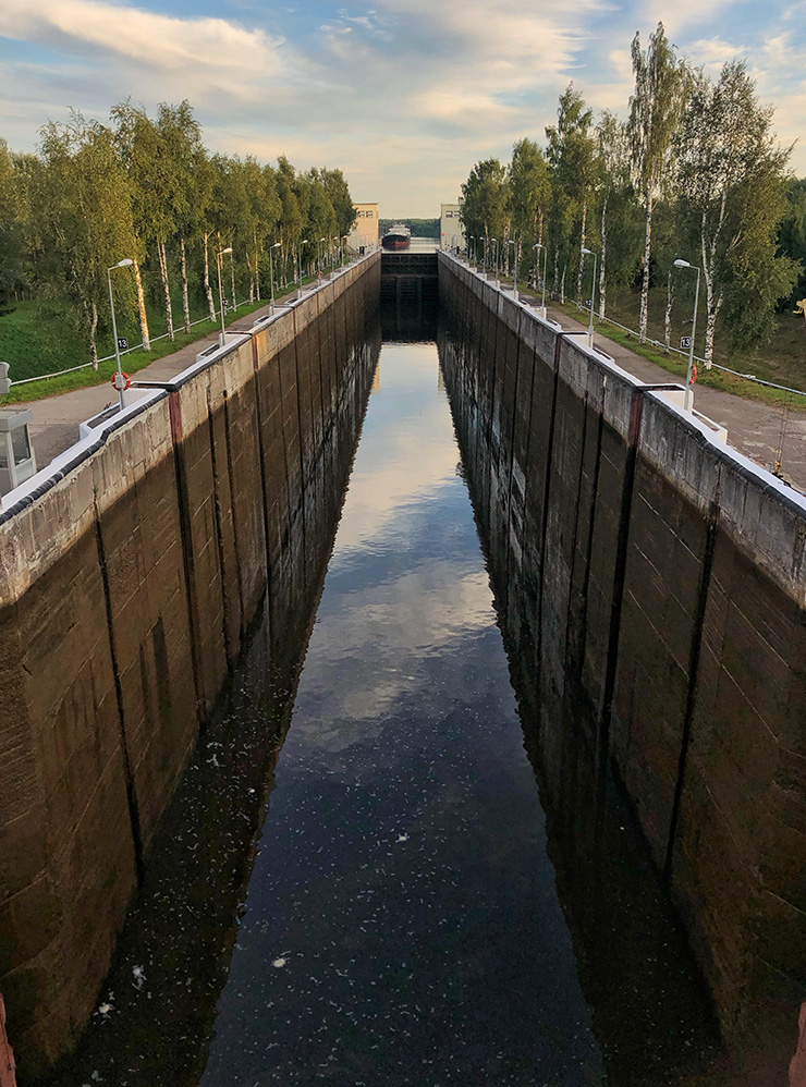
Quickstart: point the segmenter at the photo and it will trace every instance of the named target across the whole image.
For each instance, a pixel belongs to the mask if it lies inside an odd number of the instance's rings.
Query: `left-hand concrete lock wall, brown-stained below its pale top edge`
[[[304,582],[295,525],[321,500],[315,468],[369,350],[379,278],[373,254],[228,335],[3,501],[0,992],[32,1073],[95,1009],[157,825],[267,593],[281,652],[283,575]]]

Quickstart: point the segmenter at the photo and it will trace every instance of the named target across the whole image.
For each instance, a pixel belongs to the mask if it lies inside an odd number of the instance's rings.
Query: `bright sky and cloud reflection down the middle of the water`
[[[433,344],[386,344],[206,1087],[601,1082]]]

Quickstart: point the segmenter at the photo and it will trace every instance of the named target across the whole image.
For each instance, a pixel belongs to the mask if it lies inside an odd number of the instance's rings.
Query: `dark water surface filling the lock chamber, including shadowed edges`
[[[384,343],[302,671],[267,669],[259,627],[114,1011],[52,1083],[710,1082],[687,1077],[708,1003],[618,790],[595,796],[573,725],[560,770],[541,756],[467,468],[436,344]]]

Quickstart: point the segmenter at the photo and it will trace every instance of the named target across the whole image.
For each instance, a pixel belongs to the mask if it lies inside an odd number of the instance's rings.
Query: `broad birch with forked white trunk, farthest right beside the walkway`
[[[777,252],[792,148],[778,146],[772,114],[744,62],[733,61],[716,84],[698,75],[677,137],[681,204],[698,251],[691,262],[698,256],[705,281],[707,367],[723,305],[734,342],[757,345],[797,278],[798,265]]]

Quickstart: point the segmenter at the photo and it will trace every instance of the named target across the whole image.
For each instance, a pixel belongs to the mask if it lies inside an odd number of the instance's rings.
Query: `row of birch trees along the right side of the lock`
[[[769,341],[777,306],[802,296],[806,181],[789,171],[792,148],[778,145],[773,108],[759,101],[744,62],[711,80],[677,56],[659,23],[645,49],[635,35],[632,65],[625,121],[608,110],[595,118],[571,83],[544,147],[525,138],[506,166],[477,162],[462,185],[465,232],[479,254],[481,245],[500,251],[506,264],[515,242],[522,278],[533,282],[545,262],[563,303],[575,295],[582,305],[590,290],[583,251],[596,252],[599,317],[609,290],[639,284],[642,343],[650,285],[664,285],[667,351],[674,260],[687,260],[701,270],[710,366],[718,328],[732,345],[755,349]]]

